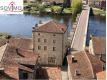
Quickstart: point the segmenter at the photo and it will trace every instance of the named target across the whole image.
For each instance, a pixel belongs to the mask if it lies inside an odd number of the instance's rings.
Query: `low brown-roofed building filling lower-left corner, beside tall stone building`
[[[16,42],[17,43],[17,42]],[[15,47],[11,42],[0,47],[0,80],[34,79],[38,55]]]

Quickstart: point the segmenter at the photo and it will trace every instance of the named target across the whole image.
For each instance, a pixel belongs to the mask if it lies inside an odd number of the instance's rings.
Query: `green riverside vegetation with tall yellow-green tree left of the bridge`
[[[67,4],[62,5],[45,5],[41,2],[35,3],[24,3],[24,13],[26,14],[43,14],[43,13],[53,13],[53,14],[77,14],[82,9],[81,0],[72,0],[70,6]]]

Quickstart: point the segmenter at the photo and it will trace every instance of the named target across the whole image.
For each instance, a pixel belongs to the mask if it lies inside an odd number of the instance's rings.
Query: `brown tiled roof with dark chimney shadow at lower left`
[[[29,72],[33,71],[31,68],[26,67],[20,63],[24,60],[26,61],[26,65],[34,65],[34,61],[35,64],[37,62],[37,57],[38,55],[31,51],[21,49],[18,50],[16,47],[8,43],[0,65],[2,68],[4,68],[5,74],[9,75],[11,78],[19,80],[19,69]]]

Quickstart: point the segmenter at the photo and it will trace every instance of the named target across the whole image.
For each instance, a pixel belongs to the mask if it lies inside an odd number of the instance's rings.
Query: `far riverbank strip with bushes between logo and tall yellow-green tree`
[[[24,3],[25,14],[61,14],[61,5],[43,5],[39,3]],[[72,8],[64,8],[62,14],[72,14]]]

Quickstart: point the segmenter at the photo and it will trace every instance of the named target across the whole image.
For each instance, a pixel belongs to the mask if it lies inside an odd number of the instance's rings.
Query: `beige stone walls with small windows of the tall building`
[[[62,65],[62,61],[66,52],[66,35],[67,33],[64,35],[58,33],[33,32],[34,51],[40,55],[38,60],[40,64]],[[44,42],[44,40],[46,40],[46,42]],[[55,40],[55,43],[53,43],[53,40]],[[41,46],[40,50],[38,50],[38,46]],[[44,50],[44,46],[47,46],[47,50]],[[55,47],[55,51],[53,51],[53,47]],[[50,61],[51,57],[52,60]]]

